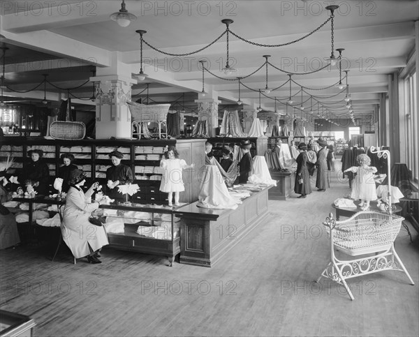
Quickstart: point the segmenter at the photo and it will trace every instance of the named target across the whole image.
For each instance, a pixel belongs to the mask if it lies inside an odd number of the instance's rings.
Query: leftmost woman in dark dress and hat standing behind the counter
[[[41,159],[43,151],[38,149],[30,150],[28,151],[28,156],[31,157],[31,161],[24,165],[22,174],[19,177],[22,188],[30,184],[38,192],[38,195],[50,194],[50,170]]]

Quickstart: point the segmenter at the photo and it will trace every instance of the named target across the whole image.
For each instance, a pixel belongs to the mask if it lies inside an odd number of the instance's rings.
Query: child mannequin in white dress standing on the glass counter
[[[182,170],[188,167],[195,167],[195,164],[187,165],[186,161],[179,159],[179,153],[175,147],[168,147],[164,158],[160,161],[160,167],[164,170],[161,179],[160,190],[169,193],[169,206],[173,206],[172,197],[175,193],[175,206],[179,206],[179,192],[185,190],[182,180]]]

